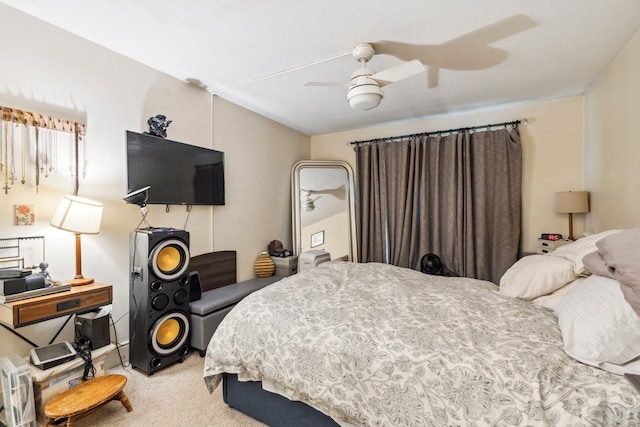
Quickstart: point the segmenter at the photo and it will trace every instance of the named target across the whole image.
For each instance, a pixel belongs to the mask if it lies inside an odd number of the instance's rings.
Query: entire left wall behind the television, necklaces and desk
[[[79,195],[104,203],[105,209],[100,234],[82,239],[82,270],[113,285],[119,342],[128,341],[129,233],[140,222],[138,208],[122,200],[127,190],[125,130],[145,131],[149,117],[164,114],[173,120],[168,138],[225,152],[227,205],[194,206],[190,216],[184,207],[173,206],[166,213],[164,206],[150,206],[152,226],[184,228],[186,223],[193,255],[237,250],[240,280],[255,277],[253,263],[271,240],[290,247],[289,172],[297,160],[309,157],[308,136],[221,99],[212,102],[202,89],[3,4],[0,38],[8,41],[0,66],[0,105],[87,123],[88,168]],[[46,48],[43,41],[55,48]],[[33,183],[0,193],[0,236],[44,235],[52,275],[71,278],[73,235],[48,223],[61,197],[71,194],[73,180],[65,170],[42,181],[37,194]],[[35,205],[35,225],[13,225],[13,205],[18,203]],[[44,345],[64,320],[19,332]],[[58,340],[73,340],[70,325]],[[0,355],[26,355],[30,348],[5,329],[0,329],[0,343]]]

